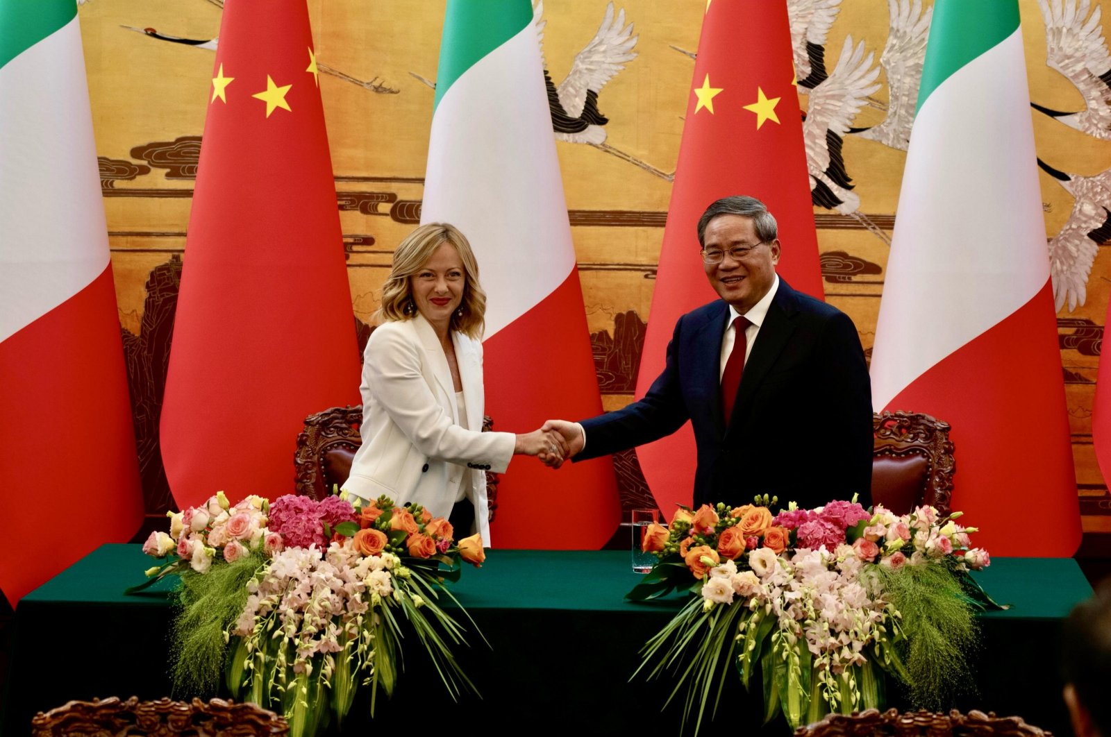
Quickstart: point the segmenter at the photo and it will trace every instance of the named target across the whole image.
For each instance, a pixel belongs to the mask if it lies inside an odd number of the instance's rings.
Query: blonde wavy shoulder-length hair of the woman
[[[450,243],[459,253],[464,274],[463,301],[459,310],[451,314],[451,330],[480,340],[486,329],[486,292],[479,284],[479,262],[467,236],[449,223],[426,223],[398,244],[390,275],[382,285],[382,305],[374,316],[379,323],[413,319],[417,304],[409,277],[419,272],[443,243]]]

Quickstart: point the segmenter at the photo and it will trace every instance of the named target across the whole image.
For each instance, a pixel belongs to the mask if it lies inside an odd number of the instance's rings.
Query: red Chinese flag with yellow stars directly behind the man
[[[637,398],[663,370],[675,321],[717,299],[702,269],[697,230],[714,200],[748,194],[763,201],[783,244],[777,272],[794,289],[823,296],[797,89],[787,3],[712,0],[702,20]],[[669,518],[677,503],[690,504],[695,457],[690,424],[637,455]]]

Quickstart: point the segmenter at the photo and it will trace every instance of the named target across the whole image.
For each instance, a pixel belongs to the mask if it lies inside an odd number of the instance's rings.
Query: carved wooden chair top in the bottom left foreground
[[[186,703],[168,698],[140,701],[136,696],[120,700],[113,696],[70,701],[46,714],[39,711],[31,719],[32,737],[269,737],[288,733],[286,719],[273,711],[220,698]]]

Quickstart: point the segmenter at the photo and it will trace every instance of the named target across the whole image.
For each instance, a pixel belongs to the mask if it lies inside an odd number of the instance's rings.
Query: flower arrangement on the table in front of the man
[[[650,676],[680,674],[670,698],[687,685],[695,733],[730,665],[745,688],[759,667],[765,723],[782,714],[792,729],[882,708],[884,675],[915,706],[940,708],[968,680],[974,612],[999,608],[969,575],[990,563],[970,545],[975,528],[930,506],[895,515],[835,501],[773,514],[769,502],[683,507],[648,528],[642,547],[659,562],[628,597],[694,596],[645,645],[638,673],[655,660]]]

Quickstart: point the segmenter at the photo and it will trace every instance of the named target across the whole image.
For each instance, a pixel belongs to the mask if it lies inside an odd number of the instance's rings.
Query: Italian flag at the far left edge
[[[139,528],[73,0],[0,0],[0,590],[12,604]]]

